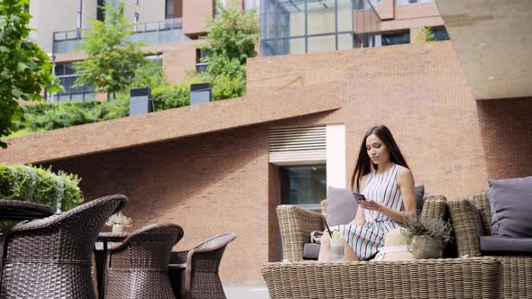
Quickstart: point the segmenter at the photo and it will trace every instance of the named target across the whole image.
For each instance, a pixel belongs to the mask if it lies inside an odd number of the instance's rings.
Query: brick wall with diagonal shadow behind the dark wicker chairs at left
[[[270,251],[266,136],[259,127],[236,129],[51,165],[82,177],[87,200],[127,195],[124,213],[132,217],[130,230],[154,222],[181,225],[185,236],[176,249],[236,232],[220,276],[225,283],[259,284],[260,265],[269,260]]]

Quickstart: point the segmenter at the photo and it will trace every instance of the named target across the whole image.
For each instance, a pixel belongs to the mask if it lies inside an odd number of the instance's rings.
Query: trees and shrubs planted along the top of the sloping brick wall
[[[87,49],[88,59],[79,62],[75,66],[82,75],[77,84],[96,84],[96,86],[101,84],[99,90],[116,92],[116,100],[109,102],[70,101],[25,105],[23,106],[23,112],[26,115],[27,122],[15,122],[15,129],[19,130],[20,133],[17,134],[15,132],[12,136],[21,136],[31,131],[49,131],[128,116],[129,88],[151,88],[151,99],[153,100],[155,111],[189,105],[191,83],[211,83],[215,101],[244,95],[245,62],[246,59],[257,55],[255,44],[259,37],[259,23],[253,17],[253,10],[242,12],[237,5],[229,8],[225,8],[219,2],[216,5],[218,5],[221,14],[217,14],[215,18],[207,23],[207,31],[209,33],[202,38],[205,42],[197,46],[201,50],[208,51],[207,57],[203,60],[208,62],[205,73],[197,74],[196,71],[190,71],[184,82],[170,84],[164,77],[161,65],[150,59],[137,59],[136,50],[135,54],[132,54],[134,59],[131,59],[131,61],[134,61],[133,64],[127,65],[127,68],[123,68],[124,64],[122,63],[116,65],[115,63],[120,59],[110,57],[109,53],[105,53],[109,50],[101,50],[101,47],[115,49],[115,47],[125,41],[129,34],[128,32],[131,33],[131,28],[124,24],[124,17],[117,15],[115,25],[120,24],[120,28],[105,28],[105,31],[107,31],[105,34],[93,31],[91,33],[93,34],[92,40],[89,34],[84,46]],[[107,6],[107,9],[111,8]],[[114,12],[120,11],[120,9],[121,7],[118,10],[114,10]],[[98,26],[100,25],[102,24],[98,24]],[[113,35],[111,33],[117,36],[111,37],[110,35]],[[107,39],[110,39],[110,41],[105,41]],[[94,47],[94,53],[92,54],[91,47]],[[124,54],[124,57],[127,57],[127,55]],[[130,69],[132,66],[134,68]],[[99,68],[102,69],[98,70]],[[127,78],[109,77],[105,73],[119,68],[130,69],[126,76]],[[130,75],[132,73],[133,76]],[[113,76],[118,76],[118,74]],[[105,78],[106,83],[104,81],[96,82],[96,79],[102,78]],[[109,84],[109,86],[105,87],[106,84]]]

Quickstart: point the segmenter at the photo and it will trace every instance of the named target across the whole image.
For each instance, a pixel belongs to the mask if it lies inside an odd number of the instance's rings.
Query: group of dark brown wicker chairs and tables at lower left
[[[0,199],[0,220],[26,220],[1,234],[0,297],[225,298],[218,267],[236,234],[172,252],[184,235],[178,224],[101,233],[127,203],[110,195],[54,213],[45,204]],[[107,248],[107,240],[120,243]],[[98,241],[104,250],[96,249]]]

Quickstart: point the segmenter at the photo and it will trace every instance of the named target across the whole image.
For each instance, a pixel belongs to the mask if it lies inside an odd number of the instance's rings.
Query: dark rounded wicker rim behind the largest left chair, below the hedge
[[[51,216],[55,211],[46,204],[0,199],[0,221],[22,221]]]

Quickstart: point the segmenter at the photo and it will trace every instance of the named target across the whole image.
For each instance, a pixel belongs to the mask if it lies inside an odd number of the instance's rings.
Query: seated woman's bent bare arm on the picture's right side
[[[416,193],[414,191],[414,177],[412,176],[412,172],[410,172],[408,168],[401,168],[399,170],[399,173],[397,175],[397,186],[399,187],[401,196],[403,197],[403,204],[405,205],[404,212],[390,209],[389,207],[378,204],[377,202],[371,199],[362,201],[360,206],[362,206],[364,209],[370,209],[379,213],[383,213],[384,215],[395,220],[396,222],[404,223],[405,216],[407,216],[409,213],[416,213]]]

